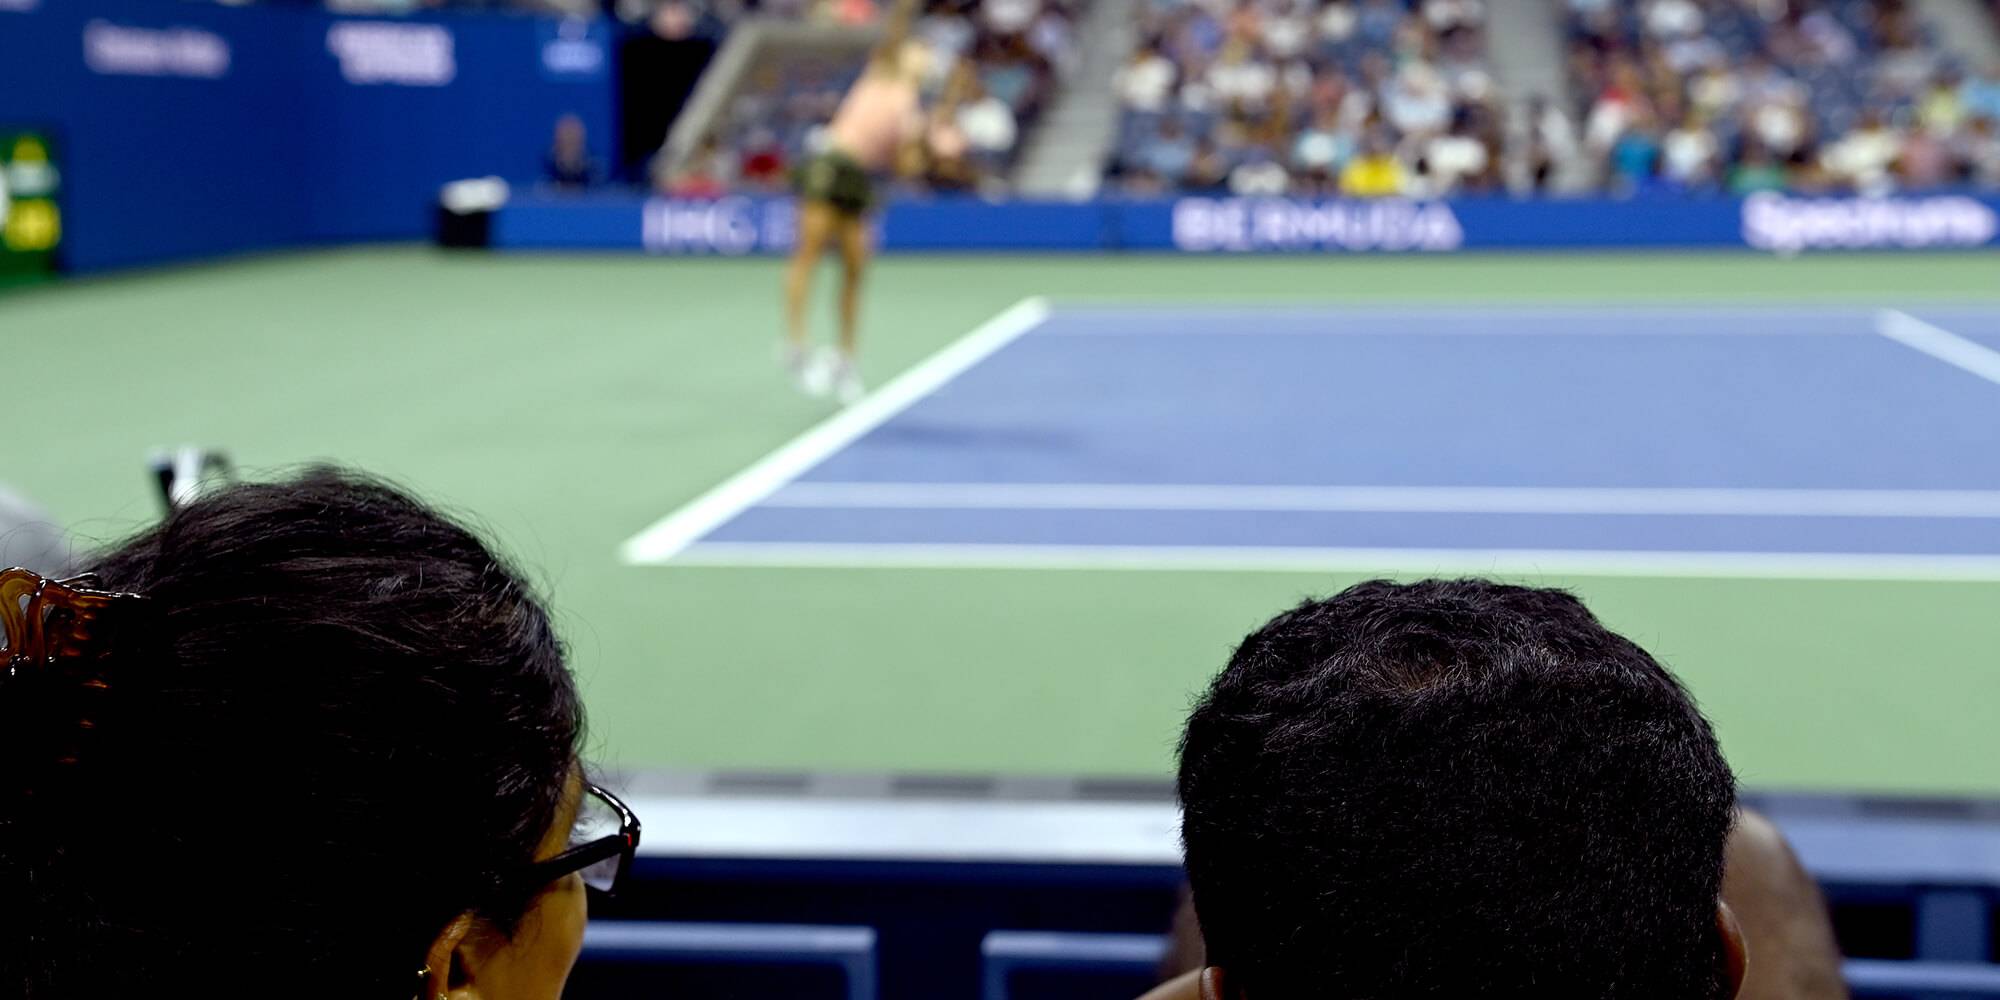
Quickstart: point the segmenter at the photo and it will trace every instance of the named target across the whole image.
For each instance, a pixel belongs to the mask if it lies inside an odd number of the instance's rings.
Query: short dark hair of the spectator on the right
[[[1252,1000],[1720,998],[1734,798],[1646,650],[1482,580],[1280,614],[1180,742],[1208,960]]]

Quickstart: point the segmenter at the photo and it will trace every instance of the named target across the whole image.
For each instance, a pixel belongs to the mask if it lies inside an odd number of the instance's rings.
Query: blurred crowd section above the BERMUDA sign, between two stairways
[[[1116,80],[1132,194],[1502,186],[1482,0],[1148,0]]]

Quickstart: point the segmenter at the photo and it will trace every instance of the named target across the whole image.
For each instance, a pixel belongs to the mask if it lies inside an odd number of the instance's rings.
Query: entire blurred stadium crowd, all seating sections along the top
[[[720,38],[744,16],[872,24],[884,6],[520,2],[602,8],[670,38]],[[468,4],[488,0],[448,2]],[[1080,58],[1080,4],[928,2],[926,116],[894,188],[1004,192],[1024,136]],[[2000,2],[1986,6],[2000,22]],[[1140,0],[1140,44],[1114,80],[1108,188],[1354,198],[2000,188],[2000,66],[1954,62],[1912,0],[1562,0],[1560,10],[1566,94],[1512,102],[1488,58],[1486,0]],[[852,80],[852,60],[760,68],[712,140],[658,170],[656,186],[782,190]]]

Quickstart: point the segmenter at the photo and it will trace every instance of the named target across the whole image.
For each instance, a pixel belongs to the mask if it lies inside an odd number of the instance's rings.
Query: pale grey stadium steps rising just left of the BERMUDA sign
[[[1022,144],[1014,188],[1028,198],[1090,198],[1118,138],[1112,80],[1138,42],[1138,0],[1092,0],[1076,30],[1082,60]]]

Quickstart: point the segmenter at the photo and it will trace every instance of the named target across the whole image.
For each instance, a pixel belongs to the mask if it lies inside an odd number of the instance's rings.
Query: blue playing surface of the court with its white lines
[[[628,562],[2000,578],[2000,310],[1030,300]]]

